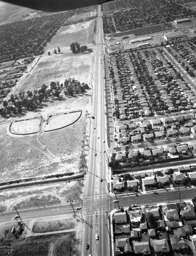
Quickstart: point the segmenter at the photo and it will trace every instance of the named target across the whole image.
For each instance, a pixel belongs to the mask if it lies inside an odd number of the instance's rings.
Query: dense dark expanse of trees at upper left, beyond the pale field
[[[70,10],[0,26],[0,63],[40,55],[57,30],[75,11]]]

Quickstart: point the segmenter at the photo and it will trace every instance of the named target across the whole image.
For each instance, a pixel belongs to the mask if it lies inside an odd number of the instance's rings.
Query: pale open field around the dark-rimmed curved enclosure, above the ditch
[[[54,132],[34,136],[10,136],[9,122],[0,125],[0,182],[79,172],[78,161],[86,125],[85,110],[90,106],[88,104],[89,98],[86,96],[67,106],[71,110],[81,109],[83,114],[74,124]],[[46,110],[47,108],[43,114],[46,114]],[[63,112],[65,103],[57,101],[48,110]]]

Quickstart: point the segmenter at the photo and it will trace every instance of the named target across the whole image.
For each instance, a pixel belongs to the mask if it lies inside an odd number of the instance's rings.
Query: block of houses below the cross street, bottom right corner
[[[153,216],[154,223],[151,222],[150,215]],[[142,255],[165,255],[171,250],[188,253],[189,239],[195,252],[195,224],[189,222],[195,220],[195,217],[194,207],[190,203],[165,204],[159,207],[133,205],[124,212],[115,212],[113,223],[116,248],[122,252]]]

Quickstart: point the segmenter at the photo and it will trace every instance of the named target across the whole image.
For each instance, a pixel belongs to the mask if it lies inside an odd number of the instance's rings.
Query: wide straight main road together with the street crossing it
[[[97,12],[97,30],[96,30],[96,46],[94,51],[94,70],[93,70],[93,97],[92,97],[92,113],[95,119],[91,119],[90,139],[89,139],[89,163],[88,173],[85,179],[84,200],[79,205],[73,202],[74,208],[81,206],[78,211],[84,222],[83,238],[81,244],[81,255],[87,256],[109,256],[112,255],[110,236],[109,236],[109,220],[108,214],[118,205],[113,203],[114,197],[109,194],[107,181],[110,180],[107,159],[107,119],[105,101],[105,81],[104,81],[104,45],[103,45],[103,25],[101,6]],[[195,188],[183,188],[181,190],[181,200],[187,200],[194,197]],[[163,202],[173,202],[179,200],[179,191],[161,191],[158,195],[153,193],[142,194],[136,197],[135,195],[120,196],[118,195],[119,206],[128,207],[132,204],[159,204]],[[62,215],[73,214],[73,209],[70,203],[65,205],[46,206],[31,209],[20,210],[20,216],[23,221],[36,219],[39,211],[39,219],[58,217]],[[0,223],[10,222],[15,215],[15,212],[6,212],[1,214]],[[99,240],[96,240],[95,234],[99,235]],[[89,249],[86,249],[86,244],[89,244]]]

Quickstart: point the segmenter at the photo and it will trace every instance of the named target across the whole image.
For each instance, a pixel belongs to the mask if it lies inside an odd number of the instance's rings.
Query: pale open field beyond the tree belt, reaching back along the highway
[[[49,86],[51,81],[63,83],[65,79],[75,79],[89,84],[91,55],[73,54],[69,45],[71,42],[79,42],[80,45],[93,47],[94,20],[76,26],[64,26],[45,48],[45,53],[37,66],[28,73],[18,92],[41,88],[42,84]],[[54,54],[54,50],[60,47],[61,52]],[[48,51],[51,55],[48,56]]]

